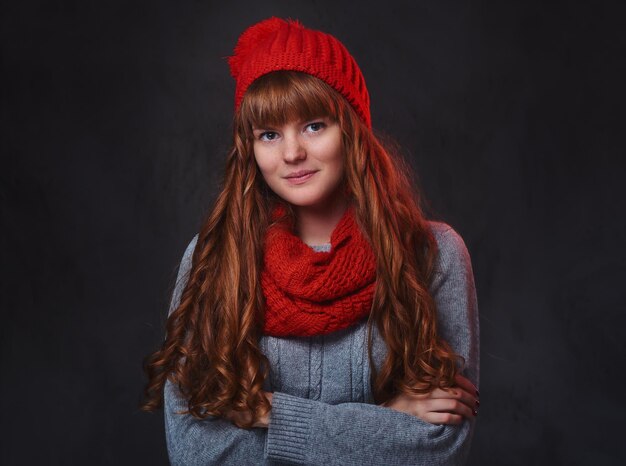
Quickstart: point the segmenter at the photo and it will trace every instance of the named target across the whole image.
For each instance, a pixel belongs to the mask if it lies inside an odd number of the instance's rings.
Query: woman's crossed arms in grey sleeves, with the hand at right
[[[478,392],[478,315],[469,255],[447,227],[437,232],[439,271],[431,292],[440,332],[466,360],[453,390],[399,395],[383,406],[330,405],[286,393],[268,393],[272,410],[250,430],[228,419],[198,420],[177,412],[186,401],[165,387],[168,451],[172,464],[461,464],[471,441]],[[195,241],[181,263],[177,289]],[[173,300],[177,297],[175,291]],[[175,303],[173,303],[174,305]],[[231,413],[232,416],[245,415]]]

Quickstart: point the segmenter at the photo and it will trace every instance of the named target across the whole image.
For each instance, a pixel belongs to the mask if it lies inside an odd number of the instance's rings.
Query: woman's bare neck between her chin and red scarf
[[[345,197],[333,199],[323,207],[297,207],[297,231],[302,242],[310,245],[330,242],[333,230],[348,208]]]

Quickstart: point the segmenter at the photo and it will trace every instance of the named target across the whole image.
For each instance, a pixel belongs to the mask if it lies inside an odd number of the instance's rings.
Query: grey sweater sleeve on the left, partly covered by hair
[[[172,294],[170,314],[180,303],[191,269],[195,237],[181,261]],[[167,381],[164,390],[165,434],[171,464],[177,465],[258,465],[264,462],[266,429],[240,429],[230,421],[208,417],[196,419],[181,414],[187,401],[178,387]]]

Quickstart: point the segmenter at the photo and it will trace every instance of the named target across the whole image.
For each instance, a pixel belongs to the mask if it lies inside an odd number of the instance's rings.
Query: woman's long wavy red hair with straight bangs
[[[269,362],[259,349],[264,307],[259,278],[264,234],[281,199],[257,168],[252,127],[321,116],[337,121],[342,130],[346,190],[377,260],[368,319],[374,399],[383,403],[400,392],[454,385],[459,356],[437,336],[428,290],[437,244],[405,167],[334,89],[307,74],[277,71],[250,86],[235,114],[221,192],[198,235],[165,341],[146,360],[149,380],[142,409],[162,405],[169,379],[198,418],[246,411],[252,414],[249,422],[237,425],[250,428],[269,411],[262,393]],[[380,371],[371,362],[373,325],[388,349]]]

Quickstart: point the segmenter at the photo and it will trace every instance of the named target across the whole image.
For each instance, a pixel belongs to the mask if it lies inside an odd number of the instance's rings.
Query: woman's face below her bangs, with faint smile
[[[254,158],[270,189],[295,207],[326,207],[342,192],[341,128],[330,118],[254,127]]]

